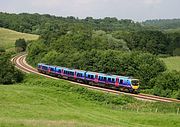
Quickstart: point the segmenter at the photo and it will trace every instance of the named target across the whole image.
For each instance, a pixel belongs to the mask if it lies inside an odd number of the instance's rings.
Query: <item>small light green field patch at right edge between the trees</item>
[[[162,58],[162,60],[165,62],[168,70],[180,71],[180,57],[179,56]]]

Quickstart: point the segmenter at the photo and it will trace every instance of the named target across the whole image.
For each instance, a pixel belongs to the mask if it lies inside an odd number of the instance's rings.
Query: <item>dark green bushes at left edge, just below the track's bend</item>
[[[23,80],[23,74],[12,65],[10,55],[0,54],[0,84],[13,84]]]

